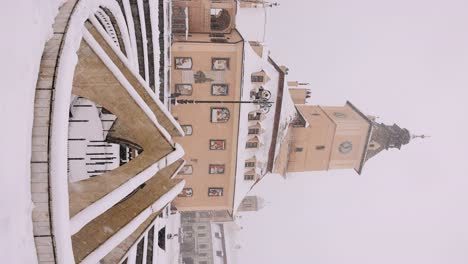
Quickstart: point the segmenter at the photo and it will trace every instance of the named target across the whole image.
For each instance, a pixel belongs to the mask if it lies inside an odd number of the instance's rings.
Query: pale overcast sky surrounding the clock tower
[[[237,263],[468,263],[468,2],[283,0],[266,43],[310,82],[312,104],[350,100],[432,137],[354,171],[271,175],[244,216]],[[263,11],[239,11],[248,39]],[[242,18],[242,19],[240,19]]]

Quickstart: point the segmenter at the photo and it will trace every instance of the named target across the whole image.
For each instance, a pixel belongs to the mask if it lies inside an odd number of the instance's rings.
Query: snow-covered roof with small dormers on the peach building
[[[245,161],[256,158],[255,171],[259,172],[260,178],[272,170],[273,162],[279,152],[279,145],[282,142],[289,122],[295,115],[295,107],[289,96],[285,92],[285,72],[269,57],[269,50],[263,46],[262,57],[252,46],[246,42],[244,48],[244,73],[242,83],[241,100],[252,100],[252,91],[258,92],[260,88],[270,93],[269,101],[272,105],[261,120],[249,120],[249,113],[260,111],[260,106],[256,104],[242,104],[239,118],[239,137],[237,146],[237,168],[235,178],[235,193],[233,212],[237,210],[240,203],[250,189],[259,179],[245,180],[246,172],[252,168],[246,168]],[[263,72],[265,78],[258,81],[252,75]],[[251,141],[253,135],[249,135],[249,128],[260,124],[261,133],[255,135],[260,144],[256,148],[247,148],[246,143]]]

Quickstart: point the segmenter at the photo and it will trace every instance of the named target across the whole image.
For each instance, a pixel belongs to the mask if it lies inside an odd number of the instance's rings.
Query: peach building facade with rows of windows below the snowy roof
[[[172,45],[171,113],[186,134],[176,139],[187,161],[178,176],[187,181],[175,201],[180,210],[232,208],[240,105],[224,102],[240,100],[244,42],[237,30],[225,40],[194,33]]]

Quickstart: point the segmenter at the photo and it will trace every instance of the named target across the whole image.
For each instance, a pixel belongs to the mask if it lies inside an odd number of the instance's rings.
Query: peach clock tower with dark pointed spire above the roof
[[[341,107],[296,108],[287,172],[354,169],[360,174],[367,160],[383,150],[400,149],[414,137],[396,124],[377,123],[350,102]]]

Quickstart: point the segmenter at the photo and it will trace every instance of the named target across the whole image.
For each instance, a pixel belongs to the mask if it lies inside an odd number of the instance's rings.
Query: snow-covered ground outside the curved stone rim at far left
[[[0,260],[36,263],[30,181],[36,80],[62,0],[3,1],[0,8]]]

